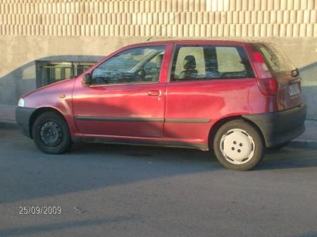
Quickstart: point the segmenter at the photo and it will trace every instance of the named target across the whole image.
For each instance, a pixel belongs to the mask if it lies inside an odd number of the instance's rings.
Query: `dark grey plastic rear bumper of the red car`
[[[305,131],[306,103],[289,110],[243,117],[261,129],[267,147],[278,146]]]

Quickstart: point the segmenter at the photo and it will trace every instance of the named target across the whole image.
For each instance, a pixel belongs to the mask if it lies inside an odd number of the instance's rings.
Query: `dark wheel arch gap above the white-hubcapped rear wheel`
[[[261,129],[254,122],[246,119],[245,117],[242,117],[242,115],[236,115],[236,116],[230,116],[230,117],[223,117],[217,122],[215,122],[213,126],[211,126],[211,129],[209,130],[209,137],[208,137],[209,149],[213,148],[213,139],[215,138],[215,135],[218,129],[220,129],[220,127],[222,127],[224,124],[232,120],[243,120],[244,122],[247,122],[248,124],[250,124],[252,127],[254,127],[254,129],[257,130],[257,132],[259,132],[261,138],[263,139],[263,142],[266,143],[266,140],[264,139]]]

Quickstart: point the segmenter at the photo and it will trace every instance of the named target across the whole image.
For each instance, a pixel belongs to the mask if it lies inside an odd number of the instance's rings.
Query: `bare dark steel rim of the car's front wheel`
[[[41,126],[40,136],[45,146],[55,147],[63,140],[63,130],[56,122],[47,121]]]

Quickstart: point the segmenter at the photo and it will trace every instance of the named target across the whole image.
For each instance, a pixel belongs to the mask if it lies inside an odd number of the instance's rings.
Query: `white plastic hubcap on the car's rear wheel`
[[[255,144],[252,136],[243,129],[230,129],[220,140],[220,150],[225,160],[242,165],[254,155]]]

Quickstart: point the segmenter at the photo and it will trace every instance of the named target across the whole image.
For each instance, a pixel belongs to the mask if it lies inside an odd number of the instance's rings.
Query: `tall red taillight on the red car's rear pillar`
[[[274,96],[278,89],[275,79],[272,77],[270,70],[266,66],[266,63],[258,51],[254,52],[253,64],[256,70],[259,88],[263,95]]]

